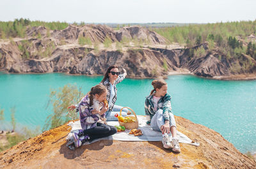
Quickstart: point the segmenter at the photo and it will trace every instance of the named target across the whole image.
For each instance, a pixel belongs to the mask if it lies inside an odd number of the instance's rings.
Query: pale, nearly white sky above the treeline
[[[256,0],[0,0],[0,21],[215,23],[256,19]]]

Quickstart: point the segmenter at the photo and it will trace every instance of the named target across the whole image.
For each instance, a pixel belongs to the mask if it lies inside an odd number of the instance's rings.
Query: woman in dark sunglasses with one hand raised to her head
[[[100,84],[104,85],[108,89],[107,101],[109,105],[109,109],[106,112],[107,121],[117,121],[115,114],[120,112],[121,108],[116,103],[117,89],[116,84],[122,82],[127,75],[126,70],[123,68],[124,73],[120,74],[117,66],[110,66],[106,71],[104,78],[100,82]],[[127,116],[131,114],[127,108],[122,110],[122,116]]]

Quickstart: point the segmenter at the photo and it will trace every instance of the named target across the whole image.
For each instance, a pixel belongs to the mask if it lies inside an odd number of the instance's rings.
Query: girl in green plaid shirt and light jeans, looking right
[[[163,147],[172,149],[174,152],[180,152],[179,140],[177,138],[177,129],[172,114],[171,96],[167,92],[167,84],[164,80],[153,80],[154,89],[145,100],[145,114],[148,117],[147,124],[156,131],[163,133]],[[169,133],[172,133],[170,141]]]

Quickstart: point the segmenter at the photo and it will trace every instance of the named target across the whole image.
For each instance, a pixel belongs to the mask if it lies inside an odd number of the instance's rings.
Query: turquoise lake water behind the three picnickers
[[[10,108],[16,108],[17,127],[44,126],[51,109],[46,109],[50,89],[65,84],[82,87],[83,93],[99,84],[100,77],[72,76],[63,73],[6,74],[0,72],[0,109],[10,122]],[[116,105],[131,107],[144,115],[144,101],[152,90],[152,80],[126,78],[117,85]],[[173,114],[220,133],[241,152],[256,151],[256,80],[221,81],[191,75],[166,79],[172,96]],[[10,128],[1,122],[0,129]]]

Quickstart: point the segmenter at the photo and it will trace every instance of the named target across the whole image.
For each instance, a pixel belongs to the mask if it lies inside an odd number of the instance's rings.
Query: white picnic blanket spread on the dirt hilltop
[[[146,117],[143,115],[137,115],[138,121],[139,121],[139,128],[141,129],[143,135],[141,136],[134,136],[134,135],[129,135],[130,129],[125,129],[125,131],[122,132],[117,132],[115,135],[104,137],[104,138],[99,138],[92,140],[91,142],[86,142],[85,144],[90,144],[97,142],[99,140],[120,140],[120,141],[162,141],[163,135],[159,131],[154,131],[152,128],[150,128],[149,125],[147,125],[147,120]],[[110,126],[119,126],[118,121],[108,121],[108,125]],[[68,126],[72,127],[72,131],[81,129],[80,121],[75,121],[75,122],[69,122]],[[189,143],[191,145],[199,146],[200,143],[192,142],[188,136],[184,135],[183,133],[180,133],[177,131],[177,137],[179,138],[180,143]],[[171,138],[172,139],[172,138]]]

